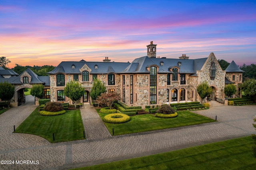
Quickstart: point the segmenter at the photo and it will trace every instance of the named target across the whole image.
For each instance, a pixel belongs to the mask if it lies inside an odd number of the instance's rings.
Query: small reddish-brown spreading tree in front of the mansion
[[[102,93],[97,97],[96,102],[98,102],[100,105],[107,105],[109,109],[112,109],[114,102],[120,99],[120,95],[114,91],[110,93]]]

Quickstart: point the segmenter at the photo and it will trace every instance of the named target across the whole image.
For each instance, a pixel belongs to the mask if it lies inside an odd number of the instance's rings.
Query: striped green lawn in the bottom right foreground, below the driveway
[[[254,170],[251,136],[76,170]]]

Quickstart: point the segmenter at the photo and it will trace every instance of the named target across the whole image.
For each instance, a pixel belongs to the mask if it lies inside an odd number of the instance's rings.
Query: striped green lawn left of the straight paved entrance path
[[[80,110],[66,111],[58,116],[42,116],[36,108],[15,132],[35,134],[51,143],[85,139]]]

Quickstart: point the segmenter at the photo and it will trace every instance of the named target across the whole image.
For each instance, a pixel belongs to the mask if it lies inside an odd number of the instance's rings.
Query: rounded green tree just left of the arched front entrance
[[[77,101],[84,95],[84,88],[77,81],[70,81],[66,83],[64,94],[73,101],[76,108]]]

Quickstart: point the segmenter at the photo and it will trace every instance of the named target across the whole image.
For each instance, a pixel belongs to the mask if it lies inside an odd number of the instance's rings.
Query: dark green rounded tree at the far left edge
[[[10,101],[14,93],[15,93],[14,85],[6,81],[4,83],[0,83],[0,99],[6,100],[9,108],[10,108]]]

